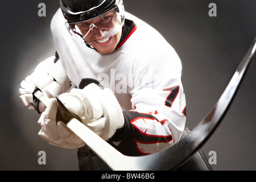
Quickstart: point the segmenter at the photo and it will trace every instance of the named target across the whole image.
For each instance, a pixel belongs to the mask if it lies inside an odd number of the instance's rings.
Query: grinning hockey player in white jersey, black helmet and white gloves
[[[40,137],[79,148],[81,170],[107,169],[56,117],[59,95],[84,125],[125,155],[154,154],[179,141],[186,120],[179,56],[158,31],[125,12],[122,0],[60,0],[51,31],[56,55],[19,90],[23,104],[42,113]],[[37,90],[51,98],[47,107]]]

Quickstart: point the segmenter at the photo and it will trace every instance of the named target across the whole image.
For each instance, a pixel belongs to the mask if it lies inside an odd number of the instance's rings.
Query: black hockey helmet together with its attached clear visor
[[[112,37],[122,30],[125,20],[122,0],[60,0],[60,7],[70,34],[85,44],[95,42],[87,38],[96,30],[101,32],[101,40]]]

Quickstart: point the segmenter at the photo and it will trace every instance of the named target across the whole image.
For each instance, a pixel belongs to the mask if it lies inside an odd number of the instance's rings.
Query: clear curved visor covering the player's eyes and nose
[[[118,6],[108,13],[84,22],[67,22],[66,26],[71,35],[81,43],[104,43],[122,31],[124,19],[123,9]]]

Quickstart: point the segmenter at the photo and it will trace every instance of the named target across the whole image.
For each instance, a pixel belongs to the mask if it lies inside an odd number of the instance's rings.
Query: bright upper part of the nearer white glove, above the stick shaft
[[[96,84],[89,84],[58,98],[68,111],[104,140],[124,126],[122,108],[109,88],[102,90]]]

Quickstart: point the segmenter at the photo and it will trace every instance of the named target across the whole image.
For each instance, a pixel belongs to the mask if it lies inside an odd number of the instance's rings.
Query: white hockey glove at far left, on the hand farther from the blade
[[[54,60],[55,56],[52,56],[42,61],[35,71],[20,83],[19,97],[28,109],[37,110],[38,113],[45,109],[45,106],[34,97],[36,90],[41,90],[48,98],[55,98],[71,87],[60,60],[56,63]]]

